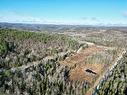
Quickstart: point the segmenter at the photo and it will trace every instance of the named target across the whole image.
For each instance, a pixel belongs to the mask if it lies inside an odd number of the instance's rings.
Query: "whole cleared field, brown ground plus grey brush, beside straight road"
[[[69,79],[73,81],[86,81],[91,85],[108,68],[121,53],[122,49],[103,46],[91,46],[60,62],[72,67]]]

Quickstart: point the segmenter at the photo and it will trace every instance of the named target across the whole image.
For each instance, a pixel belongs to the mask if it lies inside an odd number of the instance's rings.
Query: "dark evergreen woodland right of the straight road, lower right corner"
[[[127,95],[127,53],[109,76],[95,89],[95,95]]]

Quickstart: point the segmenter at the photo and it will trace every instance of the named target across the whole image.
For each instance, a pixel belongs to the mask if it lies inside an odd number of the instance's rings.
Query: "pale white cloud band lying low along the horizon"
[[[125,13],[127,16],[127,13]],[[71,25],[108,25],[110,24],[126,24],[125,20],[108,20],[96,17],[82,17],[79,19],[63,19],[63,18],[38,18],[28,15],[19,14],[13,11],[5,11],[0,14],[0,22],[12,23],[32,23],[32,24],[71,24]]]

